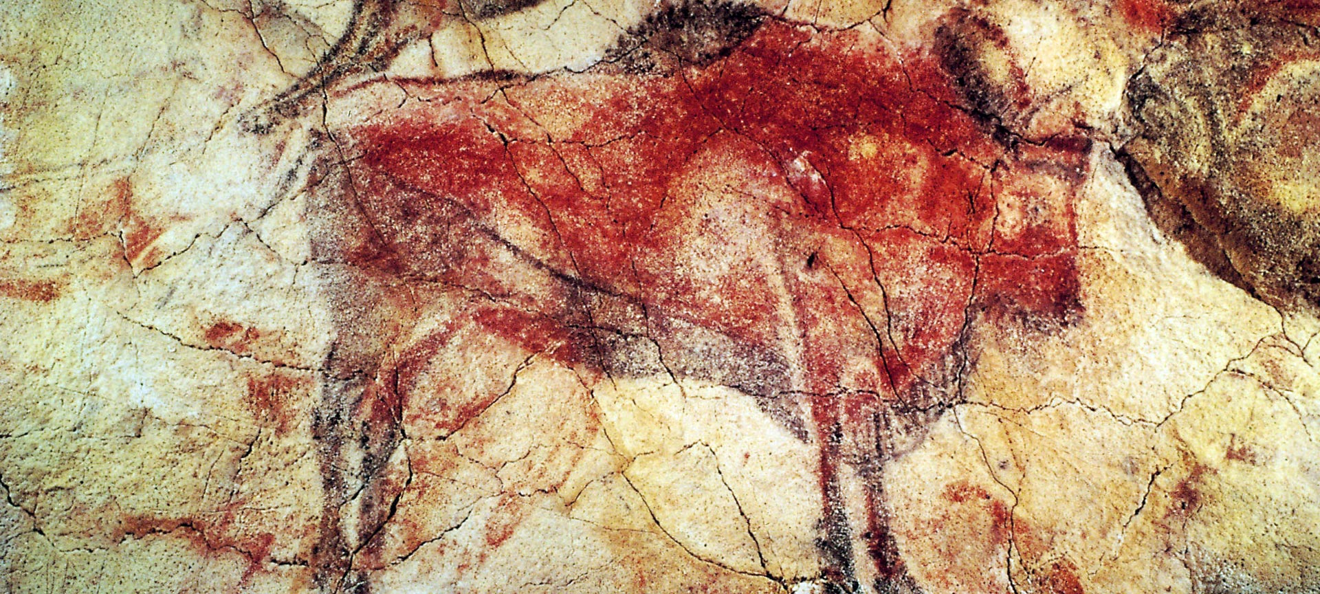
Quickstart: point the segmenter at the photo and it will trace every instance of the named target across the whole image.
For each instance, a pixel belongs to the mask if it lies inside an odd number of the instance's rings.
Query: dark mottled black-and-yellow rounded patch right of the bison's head
[[[1133,77],[1119,152],[1160,230],[1282,309],[1320,308],[1320,58],[1313,3],[1218,3],[1177,16]]]

